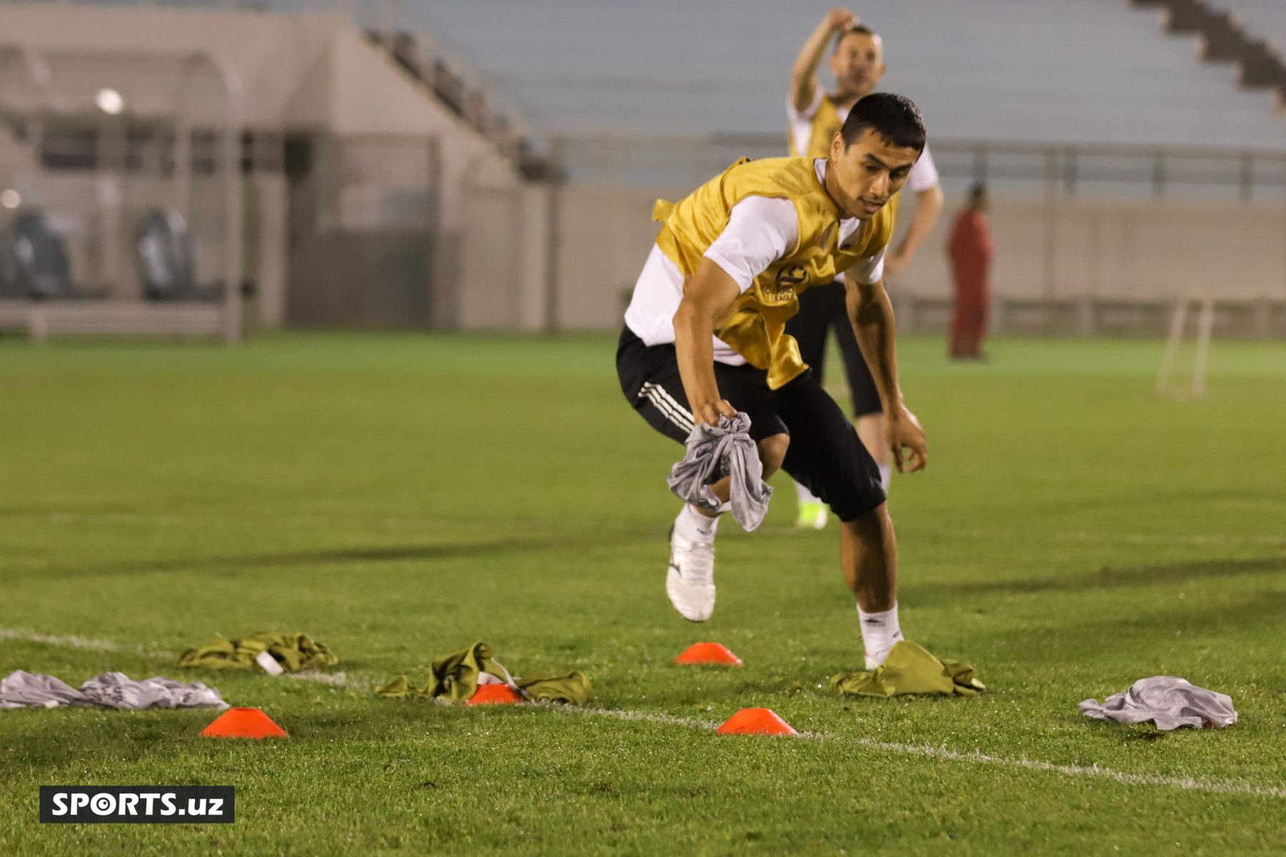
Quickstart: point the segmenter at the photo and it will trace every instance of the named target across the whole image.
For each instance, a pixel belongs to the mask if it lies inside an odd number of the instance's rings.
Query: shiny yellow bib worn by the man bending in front
[[[716,321],[715,335],[750,365],[766,369],[768,385],[777,389],[808,369],[795,338],[784,333],[786,321],[799,312],[799,293],[831,283],[858,260],[883,249],[892,238],[898,197],[840,247],[842,213],[810,158],[742,158],[678,203],[658,199],[652,209],[652,220],[662,224],[656,243],[679,266],[684,288],[702,254],[727,229],[733,206],[746,197],[790,199],[799,216],[799,240]]]

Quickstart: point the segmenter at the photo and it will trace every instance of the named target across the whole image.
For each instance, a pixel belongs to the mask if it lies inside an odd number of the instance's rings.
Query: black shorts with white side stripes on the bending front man
[[[625,328],[616,349],[616,374],[625,398],[652,428],[687,442],[692,411],[673,344],[646,346]],[[829,505],[840,520],[860,518],[885,501],[880,468],[844,410],[811,373],[769,389],[763,369],[716,362],[715,380],[719,394],[750,415],[752,438],[790,436],[782,469]]]

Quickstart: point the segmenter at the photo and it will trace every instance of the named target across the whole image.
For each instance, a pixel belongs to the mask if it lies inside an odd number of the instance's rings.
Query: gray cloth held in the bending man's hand
[[[688,452],[670,468],[670,491],[698,509],[715,511],[723,504],[710,486],[732,477],[729,502],[732,517],[742,529],[755,529],[768,514],[773,490],[764,482],[764,463],[750,437],[750,415],[737,411],[719,425],[697,423],[688,436]]]

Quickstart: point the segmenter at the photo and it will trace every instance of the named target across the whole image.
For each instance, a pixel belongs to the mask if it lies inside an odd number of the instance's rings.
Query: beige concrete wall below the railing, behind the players
[[[558,229],[558,326],[608,329],[620,325],[626,296],[655,240],[652,203],[676,199],[682,189],[657,191],[608,185],[561,189]],[[495,230],[500,209],[516,195],[489,198],[473,227]],[[887,283],[890,293],[948,297],[945,242],[963,202],[948,199],[943,217],[918,256]],[[480,202],[478,206],[482,206]],[[491,208],[491,207],[498,208]],[[903,215],[903,229],[912,207]],[[529,213],[526,229],[531,229]],[[1231,299],[1286,298],[1286,206],[1191,200],[999,198],[992,206],[995,238],[993,288],[998,296],[1042,298],[1047,276],[1047,224],[1055,243],[1055,298],[1164,299],[1208,288]],[[544,226],[541,226],[541,230]],[[466,244],[462,326],[518,325],[498,290],[512,289],[522,267],[516,252],[494,234],[471,234]],[[530,267],[526,269],[530,275]],[[489,283],[503,279],[509,285]],[[477,296],[471,294],[477,290]],[[516,301],[517,292],[505,293]],[[530,293],[529,293],[530,294]]]

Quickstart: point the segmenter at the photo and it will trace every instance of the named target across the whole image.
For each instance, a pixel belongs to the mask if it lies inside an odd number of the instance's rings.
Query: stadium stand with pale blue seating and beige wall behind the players
[[[608,328],[655,235],[652,199],[738,155],[782,153],[790,62],[832,4],[746,0],[736,19],[678,0],[539,5],[442,0],[427,13],[491,58],[530,118],[567,131],[543,253],[485,229],[530,200],[471,199],[462,317]],[[1238,89],[1235,66],[1201,63],[1197,33],[1165,36],[1160,9],[1124,0],[855,5],[887,41],[882,87],[926,114],[948,211],[974,179],[993,185],[998,328],[1164,335],[1178,296],[1215,289],[1218,334],[1286,331],[1286,119],[1271,93]],[[568,32],[572,19],[595,39]],[[945,322],[935,248],[948,224],[891,285],[904,326]],[[538,263],[544,281],[523,285]]]

